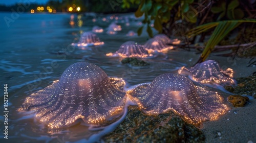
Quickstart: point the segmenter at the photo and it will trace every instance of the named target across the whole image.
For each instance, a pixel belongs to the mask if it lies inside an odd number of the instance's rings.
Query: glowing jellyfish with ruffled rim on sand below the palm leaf
[[[236,81],[232,79],[233,70],[231,68],[222,70],[218,62],[214,60],[207,60],[190,68],[183,66],[178,73],[204,85],[215,85],[221,90],[224,90],[222,87],[224,85],[236,85]]]

